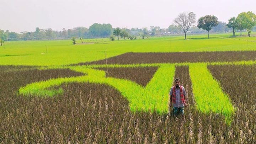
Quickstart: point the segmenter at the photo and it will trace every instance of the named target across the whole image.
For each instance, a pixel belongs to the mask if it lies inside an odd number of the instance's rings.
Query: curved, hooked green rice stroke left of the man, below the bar
[[[20,88],[19,93],[23,95],[54,96],[62,93],[62,90],[50,90],[49,88],[59,86],[63,83],[104,83],[120,91],[130,102],[129,106],[132,111],[153,111],[155,109],[160,113],[167,113],[168,111],[168,92],[174,78],[175,65],[161,65],[145,88],[129,80],[106,78],[105,72],[102,70],[88,69],[82,66],[76,66],[70,69],[87,75],[32,83]]]

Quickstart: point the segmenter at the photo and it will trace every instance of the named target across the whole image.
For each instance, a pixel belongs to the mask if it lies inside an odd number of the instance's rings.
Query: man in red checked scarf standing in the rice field
[[[186,91],[185,88],[180,85],[180,79],[175,79],[175,86],[171,87],[169,96],[170,107],[173,104],[172,111],[174,116],[182,114],[184,117],[184,106],[187,106]]]

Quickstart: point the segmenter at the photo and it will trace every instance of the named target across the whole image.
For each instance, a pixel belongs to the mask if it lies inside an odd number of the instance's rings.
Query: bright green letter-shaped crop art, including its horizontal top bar
[[[251,57],[249,58],[251,59]],[[146,62],[146,60],[143,60]],[[157,60],[156,60],[157,61]],[[207,65],[213,64],[253,64],[254,61],[241,62],[211,62],[211,63],[137,63],[137,64],[99,64],[99,65],[78,65],[64,66],[70,70],[84,73],[82,76],[74,76],[70,78],[57,78],[47,81],[35,82],[28,84],[19,89],[22,95],[36,96],[54,96],[62,94],[63,90],[52,89],[52,87],[60,86],[70,82],[90,82],[95,84],[107,84],[126,97],[129,101],[129,106],[132,111],[153,111],[159,113],[167,113],[169,108],[169,90],[172,86],[175,66],[188,66],[189,76],[192,82],[192,89],[197,110],[203,113],[221,113],[226,116],[229,122],[231,115],[234,113],[228,96],[224,94],[220,84],[213,78]],[[154,75],[146,85],[140,85],[129,79],[122,77],[114,78],[106,75],[106,70],[111,68],[157,68],[152,70]],[[104,71],[105,70],[105,71]],[[143,69],[140,69],[143,70]],[[150,72],[150,74],[153,74]],[[151,75],[150,75],[151,76]]]

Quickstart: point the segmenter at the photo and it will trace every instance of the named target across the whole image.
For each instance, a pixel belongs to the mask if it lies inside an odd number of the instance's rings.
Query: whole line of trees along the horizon
[[[89,28],[86,27],[75,27],[62,31],[54,31],[51,28],[41,29],[36,27],[33,32],[10,32],[8,30],[0,30],[0,42],[1,45],[4,41],[18,41],[18,40],[52,40],[52,39],[74,39],[74,38],[106,38],[110,37],[114,40],[115,36],[119,40],[120,38],[126,39],[137,39],[138,36],[145,37],[149,36],[161,36],[168,34],[185,34],[185,39],[187,38],[187,33],[199,34],[208,32],[208,38],[210,32],[235,32],[246,30],[248,36],[251,36],[251,31],[256,31],[256,15],[251,12],[242,12],[237,17],[231,17],[228,23],[218,21],[218,18],[214,15],[206,15],[200,17],[196,23],[196,15],[193,12],[181,13],[175,18],[174,24],[170,25],[168,28],[160,28],[159,26],[150,26],[150,29],[144,28],[113,28],[111,24],[100,24],[94,23]]]

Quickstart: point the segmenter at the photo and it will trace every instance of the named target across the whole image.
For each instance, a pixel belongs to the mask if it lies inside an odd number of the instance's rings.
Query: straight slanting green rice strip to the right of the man
[[[230,124],[234,107],[210,74],[207,64],[190,64],[189,72],[197,109],[203,113],[221,113]]]

